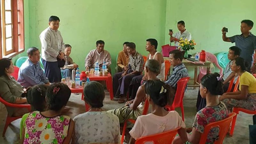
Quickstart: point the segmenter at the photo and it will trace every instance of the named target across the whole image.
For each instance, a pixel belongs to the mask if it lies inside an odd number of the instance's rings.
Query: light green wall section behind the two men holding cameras
[[[221,29],[228,28],[227,36],[240,34],[240,22],[253,20],[256,27],[255,0],[167,0],[165,42],[169,42],[169,28],[177,32],[177,22],[185,21],[186,29],[197,43],[196,50],[226,52],[232,43],[222,41]],[[256,34],[256,28],[252,33]]]

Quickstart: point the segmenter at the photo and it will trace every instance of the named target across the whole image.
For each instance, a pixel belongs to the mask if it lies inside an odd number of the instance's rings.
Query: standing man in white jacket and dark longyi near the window
[[[51,83],[61,82],[60,66],[58,60],[64,59],[64,42],[60,31],[60,19],[57,16],[49,18],[49,27],[39,36],[42,44],[42,62],[45,76]],[[62,66],[61,66],[62,67]]]

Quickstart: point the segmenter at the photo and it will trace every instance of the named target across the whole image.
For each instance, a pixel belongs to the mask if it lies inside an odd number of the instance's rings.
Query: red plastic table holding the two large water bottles
[[[90,81],[106,81],[107,90],[110,95],[110,100],[114,99],[112,76],[110,73],[108,73],[108,76],[94,76],[89,74],[87,75],[87,77],[90,79]]]

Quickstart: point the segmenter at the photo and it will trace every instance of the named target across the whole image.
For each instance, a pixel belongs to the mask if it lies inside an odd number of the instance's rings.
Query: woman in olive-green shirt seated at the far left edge
[[[27,102],[24,97],[26,92],[11,74],[14,72],[12,59],[3,58],[0,60],[0,96],[9,103],[24,104]],[[6,107],[8,116],[22,116],[28,113],[27,108]]]

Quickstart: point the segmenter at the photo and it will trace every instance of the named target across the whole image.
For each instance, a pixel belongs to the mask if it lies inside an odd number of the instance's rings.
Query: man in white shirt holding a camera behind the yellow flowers
[[[169,35],[171,36],[170,37],[170,42],[174,42],[175,46],[179,47],[180,38],[182,37],[184,40],[188,39],[188,41],[190,41],[191,40],[191,34],[185,28],[185,22],[183,20],[180,20],[178,22],[177,27],[179,29],[179,32],[175,33],[174,36],[172,36],[173,32],[170,31]]]

